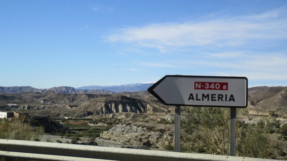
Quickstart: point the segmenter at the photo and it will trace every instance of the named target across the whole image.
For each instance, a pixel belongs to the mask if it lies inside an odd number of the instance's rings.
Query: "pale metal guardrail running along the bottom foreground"
[[[113,148],[103,146],[88,146],[51,142],[34,142],[23,140],[0,139],[0,156],[4,158],[24,158],[34,160],[121,160],[121,161],[271,161],[236,156],[220,156],[211,154],[192,154],[164,152],[156,150],[141,150],[128,148]]]

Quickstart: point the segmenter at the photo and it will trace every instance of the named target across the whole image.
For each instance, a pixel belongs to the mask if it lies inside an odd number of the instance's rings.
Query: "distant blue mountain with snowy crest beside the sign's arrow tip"
[[[114,86],[83,86],[75,89],[105,89],[114,92],[136,92],[146,91],[155,82],[133,83],[127,85],[114,85]]]

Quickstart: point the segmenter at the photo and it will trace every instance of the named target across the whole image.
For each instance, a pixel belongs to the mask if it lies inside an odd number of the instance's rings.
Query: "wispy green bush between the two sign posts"
[[[208,154],[229,154],[230,109],[213,107],[185,107],[183,136],[199,150]],[[186,149],[186,148],[184,148]]]

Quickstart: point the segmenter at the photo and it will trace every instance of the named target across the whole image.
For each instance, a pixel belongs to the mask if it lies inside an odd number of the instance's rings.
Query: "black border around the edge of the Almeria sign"
[[[185,104],[167,104],[162,100],[155,92],[154,88],[158,86],[165,78],[167,77],[189,77],[189,78],[232,78],[232,79],[245,79],[246,80],[246,104],[245,106],[218,106],[218,105],[185,105]],[[248,79],[243,76],[193,76],[193,75],[166,75],[156,83],[154,83],[150,88],[148,88],[148,92],[156,97],[160,102],[167,106],[197,106],[197,107],[229,107],[229,108],[246,108],[248,106]]]

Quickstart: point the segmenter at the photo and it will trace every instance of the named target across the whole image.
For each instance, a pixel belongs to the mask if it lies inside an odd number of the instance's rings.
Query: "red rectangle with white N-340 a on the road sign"
[[[224,82],[194,82],[194,89],[228,90],[228,83],[224,83]]]

